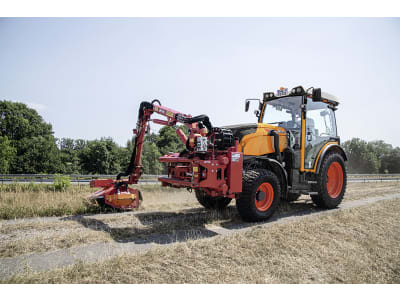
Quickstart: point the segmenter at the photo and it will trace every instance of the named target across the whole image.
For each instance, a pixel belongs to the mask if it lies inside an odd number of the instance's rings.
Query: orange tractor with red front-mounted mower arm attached
[[[154,122],[174,127],[185,145],[182,152],[159,158],[167,174],[158,180],[162,186],[194,190],[206,209],[223,209],[236,199],[241,218],[255,222],[271,217],[280,201],[303,194],[318,207],[337,207],[347,182],[347,157],[336,130],[337,99],[320,88],[298,86],[247,99],[246,112],[254,101],[257,123],[222,127],[214,127],[207,115],[184,114],[159,100],[142,102],[126,172],[116,180],[92,180],[91,187],[102,189],[91,198],[113,208],[138,207],[140,191],[129,185],[142,174],[144,136]],[[166,120],[151,119],[153,113]],[[177,123],[188,128],[188,136]]]

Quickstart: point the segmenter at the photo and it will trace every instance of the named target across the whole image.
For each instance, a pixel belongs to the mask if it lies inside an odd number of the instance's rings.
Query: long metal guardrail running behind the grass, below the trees
[[[91,175],[91,174],[0,174],[0,183],[53,183],[56,176],[68,176],[71,183],[89,183],[92,179],[116,178],[117,175]],[[160,175],[143,174],[139,183],[156,183]],[[400,181],[400,174],[348,174],[350,182],[369,182],[369,181]]]

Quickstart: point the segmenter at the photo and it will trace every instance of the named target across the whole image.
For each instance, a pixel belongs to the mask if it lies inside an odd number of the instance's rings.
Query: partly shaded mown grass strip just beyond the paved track
[[[90,235],[91,242],[105,240],[132,242],[182,230],[188,232],[207,231],[207,227],[210,225],[230,228],[242,223],[234,201],[225,210],[207,211],[197,203],[196,199],[191,198],[193,195],[182,190],[163,190],[157,186],[147,186],[142,191],[146,197],[145,205],[155,207],[157,211],[144,209],[137,214],[73,216],[60,220],[24,220],[0,223],[0,234],[3,234],[2,248],[4,249],[4,251],[0,249],[0,257],[18,256],[33,251],[43,252],[47,249],[68,248],[85,243],[85,239],[69,237],[70,232],[79,232],[83,236]],[[398,186],[388,185],[388,183],[373,186],[350,185],[345,201],[398,191]],[[190,208],[185,209],[185,206]],[[173,211],[168,212],[167,207],[172,208]],[[299,201],[294,203],[282,202],[275,215],[282,217],[285,214],[311,213],[316,209],[309,197],[302,196]],[[21,239],[21,236],[24,238]],[[49,236],[55,236],[56,239],[63,238],[68,242],[56,243]],[[36,244],[46,246],[36,247]],[[8,249],[13,250],[9,251]]]

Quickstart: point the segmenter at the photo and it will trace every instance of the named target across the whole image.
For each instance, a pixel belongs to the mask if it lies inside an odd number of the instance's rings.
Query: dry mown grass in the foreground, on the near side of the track
[[[400,202],[158,247],[3,283],[400,283]]]

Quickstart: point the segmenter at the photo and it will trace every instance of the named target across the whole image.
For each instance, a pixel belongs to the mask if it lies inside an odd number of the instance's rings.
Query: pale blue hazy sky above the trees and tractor
[[[0,18],[0,45],[0,99],[37,108],[56,137],[123,145],[154,98],[255,122],[245,98],[303,85],[339,98],[342,140],[400,146],[399,18]]]

